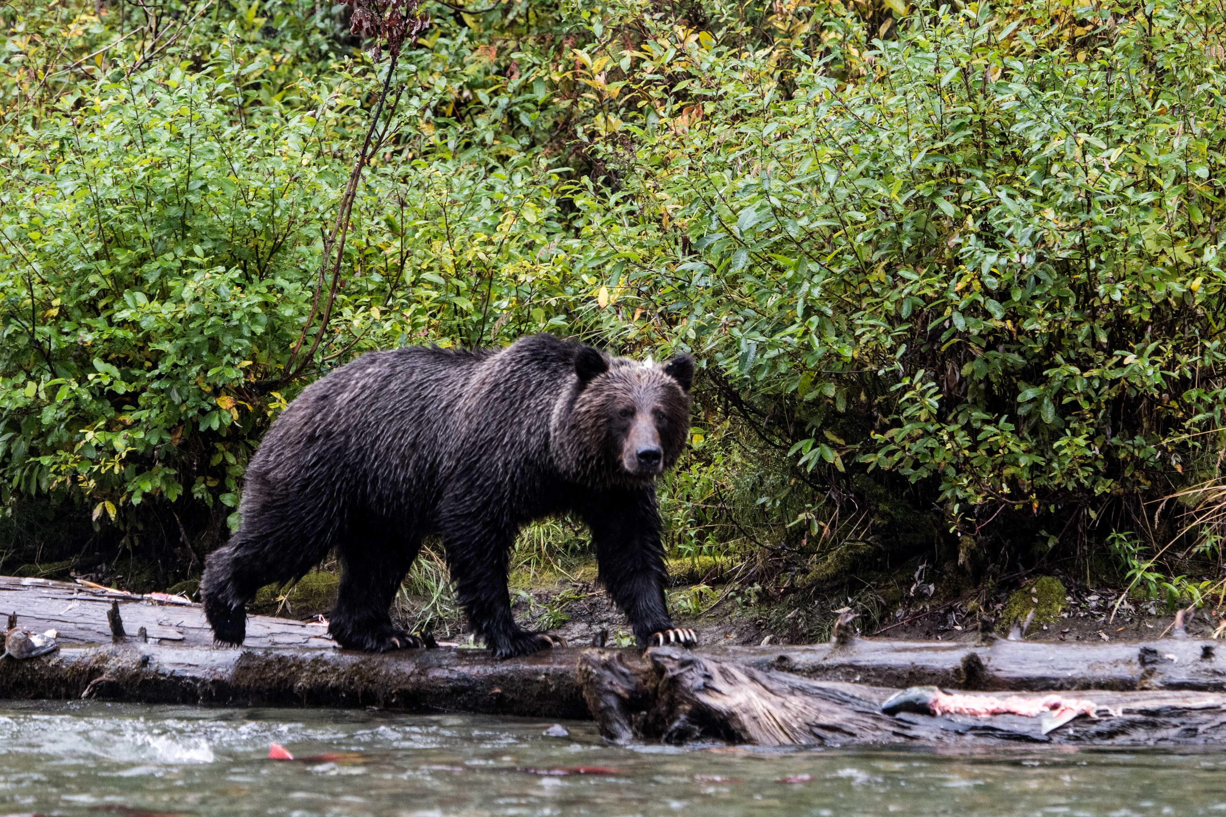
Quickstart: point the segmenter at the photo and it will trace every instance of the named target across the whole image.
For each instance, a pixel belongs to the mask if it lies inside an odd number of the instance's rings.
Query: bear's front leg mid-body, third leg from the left
[[[468,507],[477,507],[477,503]],[[468,615],[468,623],[494,650],[494,657],[511,658],[549,647],[565,647],[566,642],[558,636],[521,630],[511,615],[506,555],[515,544],[515,525],[483,523],[471,514],[452,518],[454,522],[443,532],[451,579]]]

